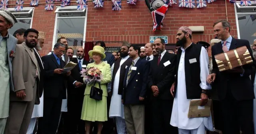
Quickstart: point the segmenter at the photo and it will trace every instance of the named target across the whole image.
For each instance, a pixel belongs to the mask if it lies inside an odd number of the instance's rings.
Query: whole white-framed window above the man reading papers
[[[80,47],[84,48],[87,8],[77,10],[77,6],[57,7],[55,13],[52,50],[58,38],[65,37],[68,41],[68,47],[74,49],[73,57],[76,57],[77,49]]]

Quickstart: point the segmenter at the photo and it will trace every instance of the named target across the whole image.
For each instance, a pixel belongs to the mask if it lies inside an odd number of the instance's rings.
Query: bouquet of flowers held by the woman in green
[[[90,67],[88,69],[82,69],[80,72],[82,75],[81,77],[84,77],[84,83],[85,84],[92,84],[95,82],[100,83],[102,80],[102,72],[97,67]]]

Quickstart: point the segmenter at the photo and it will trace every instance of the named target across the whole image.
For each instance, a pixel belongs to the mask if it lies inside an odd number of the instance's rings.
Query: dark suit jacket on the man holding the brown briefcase
[[[232,37],[229,50],[236,49],[242,46],[246,46],[250,52],[251,57],[253,57],[250,43],[249,41],[244,39],[235,39],[234,37]],[[220,53],[224,53],[222,50],[221,42],[212,46],[212,73],[216,73],[216,79],[213,83],[212,88],[217,89],[219,99],[225,99],[227,93],[232,93],[234,98],[238,101],[254,99],[253,85],[249,77],[254,70],[254,65],[252,63],[243,65],[243,76],[241,76],[240,73],[230,73],[229,70],[220,72],[214,57],[214,55]],[[253,58],[252,60],[254,61]]]

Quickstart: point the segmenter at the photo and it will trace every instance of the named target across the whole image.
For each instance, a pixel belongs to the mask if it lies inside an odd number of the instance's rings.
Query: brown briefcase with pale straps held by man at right
[[[252,63],[252,57],[246,46],[220,53],[214,57],[220,71]]]

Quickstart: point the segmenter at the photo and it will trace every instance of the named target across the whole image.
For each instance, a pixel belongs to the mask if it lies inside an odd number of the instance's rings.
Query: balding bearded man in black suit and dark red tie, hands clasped
[[[154,41],[159,56],[155,57],[150,65],[148,87],[151,89],[152,122],[154,134],[177,134],[176,127],[170,125],[173,97],[170,93],[174,82],[176,55],[168,53],[162,38]]]

